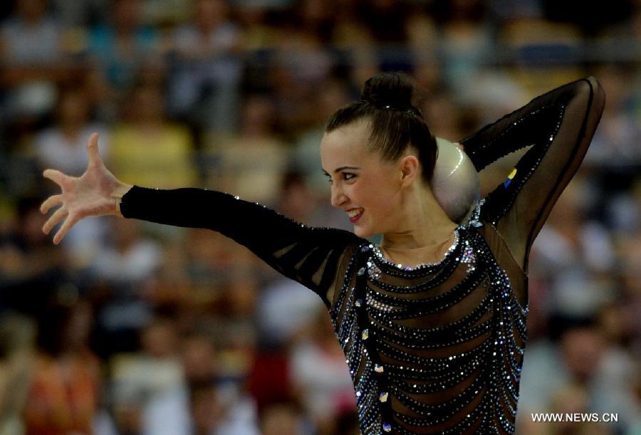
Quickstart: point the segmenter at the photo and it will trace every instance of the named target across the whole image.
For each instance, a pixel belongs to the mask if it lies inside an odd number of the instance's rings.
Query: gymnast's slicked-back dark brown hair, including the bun
[[[393,162],[407,147],[415,147],[423,179],[429,183],[437,159],[437,143],[421,111],[412,104],[417,100],[416,94],[414,81],[403,73],[374,75],[365,82],[360,100],[330,116],[325,131],[368,119],[372,127],[370,149],[380,151],[383,159]]]

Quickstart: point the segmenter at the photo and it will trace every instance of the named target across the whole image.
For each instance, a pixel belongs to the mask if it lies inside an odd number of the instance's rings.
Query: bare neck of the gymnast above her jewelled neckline
[[[399,256],[406,257],[406,263],[415,257],[418,263],[432,261],[427,258],[432,256],[439,259],[452,243],[457,224],[439,206],[432,189],[422,186],[408,189],[402,196],[401,209],[398,229],[383,234],[381,248],[398,262],[403,260]]]

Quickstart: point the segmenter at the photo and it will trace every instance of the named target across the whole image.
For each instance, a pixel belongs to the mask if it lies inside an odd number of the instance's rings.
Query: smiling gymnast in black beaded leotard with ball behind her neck
[[[432,135],[400,73],[370,78],[320,143],[331,203],[354,231],[311,228],[237,196],[125,184],[98,135],[88,169],[41,206],[53,243],[88,216],[219,231],[316,292],[345,352],[362,434],[512,434],[528,315],[528,254],[588,150],[594,78],[539,96],[473,135]],[[481,198],[479,174],[528,147]],[[379,244],[369,236],[382,235]]]

